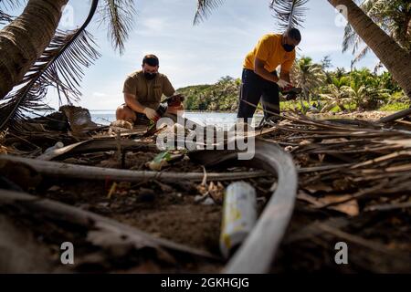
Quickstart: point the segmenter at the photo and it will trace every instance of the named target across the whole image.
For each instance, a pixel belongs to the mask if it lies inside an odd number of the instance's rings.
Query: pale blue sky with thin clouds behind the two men
[[[160,58],[160,72],[174,88],[214,83],[223,76],[240,77],[243,59],[258,38],[276,32],[276,19],[269,0],[226,0],[205,22],[193,26],[195,0],[136,0],[134,29],[123,56],[115,52],[105,26],[97,17],[89,31],[96,37],[102,57],[86,68],[80,106],[93,110],[114,110],[123,102],[122,84],[127,74],[141,68],[142,57],[153,53]],[[88,14],[89,1],[71,0],[61,28],[80,26]],[[330,55],[334,67],[350,68],[351,54],[342,54],[343,26],[332,5],[326,0],[311,0],[301,28],[299,54],[314,61]],[[69,25],[68,11],[73,12]],[[377,59],[370,54],[358,67],[374,68]],[[48,104],[58,107],[50,90]]]

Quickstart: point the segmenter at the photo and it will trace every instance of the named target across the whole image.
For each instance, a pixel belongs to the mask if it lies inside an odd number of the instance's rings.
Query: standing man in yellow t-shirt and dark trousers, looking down
[[[279,114],[279,88],[290,85],[290,69],[295,60],[295,47],[300,41],[300,31],[290,28],[282,35],[263,36],[257,47],[248,53],[244,62],[237,118],[252,118],[259,99],[266,119],[276,116],[269,111]],[[278,77],[276,68],[279,66],[281,72]]]

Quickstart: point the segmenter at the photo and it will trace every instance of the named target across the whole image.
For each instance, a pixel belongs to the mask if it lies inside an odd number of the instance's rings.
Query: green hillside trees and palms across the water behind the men
[[[343,68],[328,70],[329,67],[327,58],[321,63],[313,63],[311,57],[298,59],[291,79],[303,93],[292,101],[281,97],[281,110],[393,111],[410,107],[410,100],[388,72],[376,74],[368,68],[346,72]],[[240,86],[239,78],[227,76],[216,84],[189,86],[177,91],[186,98],[186,110],[236,111]]]

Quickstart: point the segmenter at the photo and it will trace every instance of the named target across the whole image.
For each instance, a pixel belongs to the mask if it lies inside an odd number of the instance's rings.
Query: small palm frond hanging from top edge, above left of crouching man
[[[124,43],[129,37],[136,14],[133,0],[104,0],[99,7],[100,24],[108,26],[107,36],[111,45],[122,55]]]

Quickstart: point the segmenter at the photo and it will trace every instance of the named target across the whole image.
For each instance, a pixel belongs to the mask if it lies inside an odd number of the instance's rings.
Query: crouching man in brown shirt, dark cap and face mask
[[[158,68],[158,57],[147,55],[142,59],[142,70],[126,78],[122,89],[125,103],[116,110],[117,120],[146,124],[159,118],[156,110],[162,96],[170,97],[175,90],[169,79],[158,72]],[[184,110],[183,106],[168,107],[167,112],[177,114],[178,110]]]

